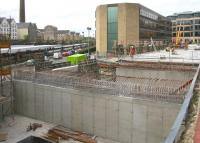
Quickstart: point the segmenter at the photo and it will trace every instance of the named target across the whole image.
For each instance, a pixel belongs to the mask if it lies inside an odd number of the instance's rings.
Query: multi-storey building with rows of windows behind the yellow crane
[[[172,39],[179,38],[183,41],[200,42],[200,12],[182,12],[168,16],[172,21]]]

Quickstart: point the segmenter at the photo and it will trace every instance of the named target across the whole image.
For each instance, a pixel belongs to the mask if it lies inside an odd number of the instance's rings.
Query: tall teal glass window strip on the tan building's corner
[[[107,50],[112,51],[114,41],[118,40],[118,7],[108,7]]]

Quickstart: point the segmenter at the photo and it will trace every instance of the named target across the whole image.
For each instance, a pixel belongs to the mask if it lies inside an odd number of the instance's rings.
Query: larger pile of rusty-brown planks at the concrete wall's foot
[[[83,132],[69,131],[62,126],[57,126],[48,131],[44,138],[59,143],[60,140],[73,139],[75,141],[80,141],[83,143],[97,143],[97,141],[91,136]]]

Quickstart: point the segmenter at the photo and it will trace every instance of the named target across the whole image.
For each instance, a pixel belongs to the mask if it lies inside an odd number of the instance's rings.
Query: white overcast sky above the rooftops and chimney
[[[38,28],[54,25],[58,29],[84,31],[95,29],[95,9],[107,3],[140,3],[161,15],[175,12],[200,11],[200,0],[25,0],[26,21]],[[19,21],[19,0],[0,0],[0,17],[13,17]]]

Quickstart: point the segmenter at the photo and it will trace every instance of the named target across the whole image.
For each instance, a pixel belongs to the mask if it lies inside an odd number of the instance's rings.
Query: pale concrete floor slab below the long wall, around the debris
[[[42,124],[42,128],[38,128],[36,131],[26,132],[26,128],[30,123]],[[14,120],[12,120],[10,117],[7,117],[4,122],[0,123],[0,132],[8,133],[8,140],[2,143],[16,143],[29,136],[41,137],[42,135],[47,133],[47,131],[50,128],[54,126],[56,125],[52,123],[47,123],[19,115],[15,115]],[[97,137],[96,140],[97,143],[119,143],[101,137]],[[81,143],[81,142],[70,139],[68,141],[61,141],[61,143]]]

